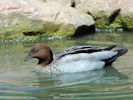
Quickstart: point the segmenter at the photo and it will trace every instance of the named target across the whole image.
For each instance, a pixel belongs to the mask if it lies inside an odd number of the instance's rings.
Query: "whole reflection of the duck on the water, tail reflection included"
[[[113,83],[122,79],[128,79],[126,75],[120,73],[114,67],[108,67],[101,70],[87,71],[81,73],[66,74],[36,74],[40,86],[71,86],[87,83]]]

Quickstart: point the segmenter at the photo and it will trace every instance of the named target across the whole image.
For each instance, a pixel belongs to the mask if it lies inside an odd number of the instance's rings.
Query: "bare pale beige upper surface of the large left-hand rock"
[[[45,2],[39,0],[1,0],[0,14],[21,13],[32,19],[64,23],[65,25],[72,24],[75,27],[93,25],[93,18],[70,7],[71,2],[67,0],[47,0]]]

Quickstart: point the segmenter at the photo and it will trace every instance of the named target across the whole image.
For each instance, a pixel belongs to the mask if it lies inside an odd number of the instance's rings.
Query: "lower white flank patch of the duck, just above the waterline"
[[[102,69],[105,65],[103,61],[78,60],[74,62],[59,63],[58,68],[63,73],[83,72],[89,70]]]

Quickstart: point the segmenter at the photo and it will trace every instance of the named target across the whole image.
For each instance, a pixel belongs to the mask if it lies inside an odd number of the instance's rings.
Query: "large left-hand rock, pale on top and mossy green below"
[[[46,29],[48,31],[45,31],[44,33],[50,36],[71,36],[75,33],[74,30],[76,31],[76,28],[79,26],[86,25],[89,27],[94,25],[94,20],[91,15],[78,11],[75,7],[74,0],[0,0],[0,15],[4,15],[4,17],[0,17],[0,23],[3,20],[2,18],[4,18],[5,21],[5,25],[2,26],[2,28],[0,27],[0,29],[5,27],[5,29],[8,29],[8,32],[17,29],[19,32],[25,33],[26,31],[26,33],[30,34],[33,34],[34,31],[35,33],[38,33],[39,29],[41,29],[41,32],[43,29]],[[23,18],[23,16],[26,16],[27,19]],[[21,18],[23,21],[21,21]],[[33,26],[33,20],[41,20],[45,24],[40,24],[39,22],[38,24],[40,25],[37,25],[35,28]],[[24,27],[22,27],[23,24]],[[55,28],[51,26],[54,26]],[[53,32],[53,34],[50,32]]]

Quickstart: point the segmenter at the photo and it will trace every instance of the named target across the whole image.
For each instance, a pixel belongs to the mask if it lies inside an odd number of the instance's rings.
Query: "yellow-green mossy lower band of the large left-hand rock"
[[[21,14],[0,15],[4,23],[0,25],[0,40],[39,40],[47,37],[69,37],[72,36],[75,28],[73,25],[55,24],[41,20],[31,20]],[[36,36],[25,36],[24,32],[41,32]]]

